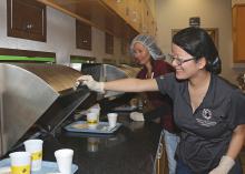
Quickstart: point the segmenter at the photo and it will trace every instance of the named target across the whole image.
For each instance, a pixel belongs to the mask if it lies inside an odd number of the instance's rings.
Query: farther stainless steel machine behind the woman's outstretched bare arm
[[[117,79],[125,78],[136,78],[139,72],[139,68],[133,68],[130,65],[121,64],[121,65],[111,65],[111,64],[82,64],[81,71],[85,74],[90,74],[97,81],[112,81]],[[102,98],[111,98],[124,94],[122,92],[107,91]]]

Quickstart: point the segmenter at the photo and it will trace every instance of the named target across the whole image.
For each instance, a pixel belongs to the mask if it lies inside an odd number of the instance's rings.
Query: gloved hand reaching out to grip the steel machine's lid
[[[91,91],[105,93],[105,83],[95,81],[91,75],[81,75],[80,78],[78,78],[77,81],[81,82],[81,84],[87,85]]]

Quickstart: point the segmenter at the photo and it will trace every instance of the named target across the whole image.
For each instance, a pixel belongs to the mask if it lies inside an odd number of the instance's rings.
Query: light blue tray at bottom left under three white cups
[[[10,167],[10,158],[4,158],[0,161],[0,168]],[[72,174],[78,170],[76,164],[72,164],[71,172]],[[47,173],[59,173],[58,165],[56,162],[42,161],[41,170],[37,172],[31,172],[31,174],[47,174]]]

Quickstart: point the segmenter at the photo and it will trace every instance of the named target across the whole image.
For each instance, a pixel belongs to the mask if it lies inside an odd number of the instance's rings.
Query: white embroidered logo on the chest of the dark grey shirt
[[[217,124],[217,122],[210,120],[212,117],[213,117],[212,111],[209,109],[203,109],[202,117],[197,117],[196,121],[203,126],[210,127]]]

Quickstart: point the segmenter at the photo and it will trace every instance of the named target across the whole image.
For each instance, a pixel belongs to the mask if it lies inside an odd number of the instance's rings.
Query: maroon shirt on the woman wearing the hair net
[[[167,62],[163,60],[153,60],[153,76],[157,78],[159,75],[164,75],[169,72],[174,72],[174,68],[168,64]],[[147,69],[144,66],[141,71],[139,71],[138,79],[147,79]],[[149,114],[153,115],[153,117],[160,117],[161,126],[169,131],[175,131],[174,125],[174,117],[173,117],[173,103],[171,99],[167,94],[161,94],[160,92],[146,92],[148,102],[154,108],[153,111],[149,111],[148,113],[144,114],[147,115],[146,120]]]

